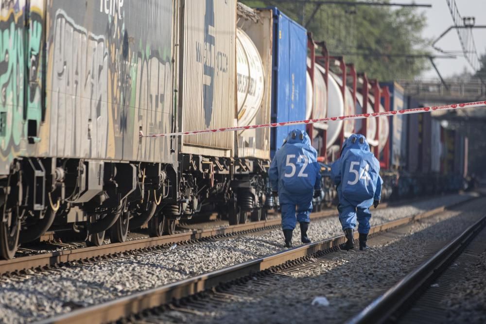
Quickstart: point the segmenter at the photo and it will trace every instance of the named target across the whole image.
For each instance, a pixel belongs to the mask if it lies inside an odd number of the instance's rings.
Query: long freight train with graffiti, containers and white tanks
[[[278,206],[266,172],[287,127],[143,135],[390,108],[388,87],[327,55],[324,44],[277,8],[254,10],[236,0],[11,0],[0,6],[4,259],[47,231],[100,245],[105,236],[122,242],[142,226],[154,237],[170,234],[177,220],[194,215],[217,212],[231,224],[264,220]],[[394,109],[398,89],[391,89]],[[407,129],[418,124],[414,118]],[[335,196],[326,175],[353,132],[368,137],[390,174],[386,195],[392,187],[408,194],[402,179],[417,188],[414,176],[426,170],[409,167],[411,176],[401,176],[403,165],[394,161],[425,159],[427,147],[422,142],[420,154],[414,143],[395,150],[407,142],[395,144],[395,123],[307,127],[325,175],[317,208]],[[440,134],[444,142],[461,140]]]

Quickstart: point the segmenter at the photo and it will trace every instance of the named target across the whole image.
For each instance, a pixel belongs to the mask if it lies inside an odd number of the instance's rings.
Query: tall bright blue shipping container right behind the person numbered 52
[[[272,122],[305,119],[307,31],[271,8],[274,15],[272,73]],[[290,128],[305,130],[305,125],[272,128],[271,157],[289,134]]]

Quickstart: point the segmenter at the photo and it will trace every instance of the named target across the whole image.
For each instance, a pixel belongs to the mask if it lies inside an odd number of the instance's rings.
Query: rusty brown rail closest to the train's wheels
[[[337,215],[335,210],[325,210],[311,214],[311,218],[321,219]],[[217,238],[225,235],[245,234],[248,231],[258,231],[271,229],[281,223],[280,218],[268,221],[249,222],[246,224],[228,225],[223,227],[191,230],[184,233],[162,236],[158,238],[134,239],[122,243],[104,244],[101,246],[92,246],[77,248],[72,250],[56,251],[33,256],[21,256],[11,260],[0,260],[0,274],[22,271],[45,266],[52,266],[66,262],[89,259],[93,257],[109,256],[119,253],[137,251],[151,247],[162,246],[166,244],[187,242],[191,240]]]

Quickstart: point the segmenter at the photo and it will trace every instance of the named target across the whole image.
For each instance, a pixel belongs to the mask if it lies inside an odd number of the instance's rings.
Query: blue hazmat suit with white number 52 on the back
[[[282,229],[293,230],[298,222],[311,222],[312,196],[321,188],[320,166],[311,139],[303,130],[289,132],[268,170],[270,185],[278,191]],[[295,212],[297,212],[295,218]]]

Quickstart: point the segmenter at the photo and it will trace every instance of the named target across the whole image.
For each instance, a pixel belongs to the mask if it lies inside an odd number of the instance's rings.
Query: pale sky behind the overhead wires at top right
[[[486,0],[455,1],[462,17],[472,16],[476,18],[476,25],[486,25]],[[427,27],[424,29],[423,34],[426,38],[436,39],[452,25],[451,12],[449,11],[446,0],[393,0],[391,2],[432,4],[432,8],[417,9],[419,12],[424,12],[427,17]],[[479,55],[484,54],[486,52],[486,28],[473,29],[473,35]],[[461,43],[459,42],[455,29],[452,29],[439,40],[436,47],[444,50],[461,51]],[[441,55],[440,52],[433,52]],[[459,74],[464,68],[472,72],[472,68],[464,57],[458,56],[455,59],[436,59],[435,64],[443,77]],[[422,78],[435,79],[437,78],[437,73],[434,68],[431,68],[422,74]]]

